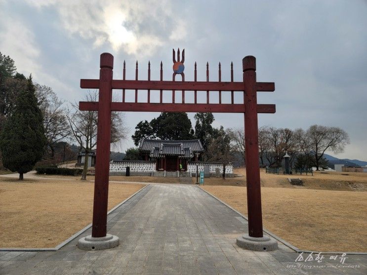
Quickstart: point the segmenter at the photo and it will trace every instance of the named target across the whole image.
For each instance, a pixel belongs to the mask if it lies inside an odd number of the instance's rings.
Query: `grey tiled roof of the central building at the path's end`
[[[193,150],[195,148],[196,150]],[[163,157],[174,155],[178,157],[192,158],[194,152],[203,152],[204,148],[200,140],[152,140],[143,139],[139,149],[148,151],[151,157]]]

